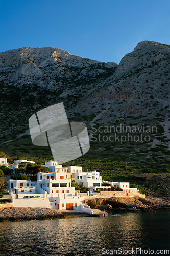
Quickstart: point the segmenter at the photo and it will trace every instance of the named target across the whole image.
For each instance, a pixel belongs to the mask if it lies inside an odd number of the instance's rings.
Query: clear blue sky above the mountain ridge
[[[0,52],[56,47],[119,63],[140,41],[170,44],[169,0],[0,0]]]

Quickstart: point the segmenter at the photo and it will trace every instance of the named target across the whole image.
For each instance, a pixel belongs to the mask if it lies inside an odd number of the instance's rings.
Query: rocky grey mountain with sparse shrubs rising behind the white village
[[[170,46],[152,41],[140,42],[118,65],[52,47],[0,53],[1,150],[13,156],[20,152],[31,155],[36,149],[29,136],[29,117],[63,102],[70,121],[87,124],[91,157],[123,161],[148,158],[151,163],[155,157],[157,162],[167,159],[169,67]],[[116,127],[119,130],[115,131]],[[129,141],[128,133],[132,135]],[[115,134],[120,135],[116,140]]]

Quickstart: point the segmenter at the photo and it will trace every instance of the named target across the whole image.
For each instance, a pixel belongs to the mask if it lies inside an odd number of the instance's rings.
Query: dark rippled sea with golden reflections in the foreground
[[[117,255],[131,255],[125,253],[132,248],[153,249],[155,253],[169,249],[169,219],[170,211],[160,210],[104,218],[0,223],[0,255],[94,256],[109,255],[104,252],[116,249]]]

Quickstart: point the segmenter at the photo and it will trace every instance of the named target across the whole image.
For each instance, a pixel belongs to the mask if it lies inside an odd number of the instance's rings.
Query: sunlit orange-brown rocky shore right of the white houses
[[[157,209],[170,210],[169,198],[96,198],[86,200],[86,204],[91,208],[106,210],[106,211],[153,211]]]

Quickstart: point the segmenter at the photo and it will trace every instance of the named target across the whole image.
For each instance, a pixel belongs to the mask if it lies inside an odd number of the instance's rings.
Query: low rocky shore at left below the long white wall
[[[5,207],[0,209],[0,222],[30,221],[65,218],[61,212],[48,208],[15,208]]]

